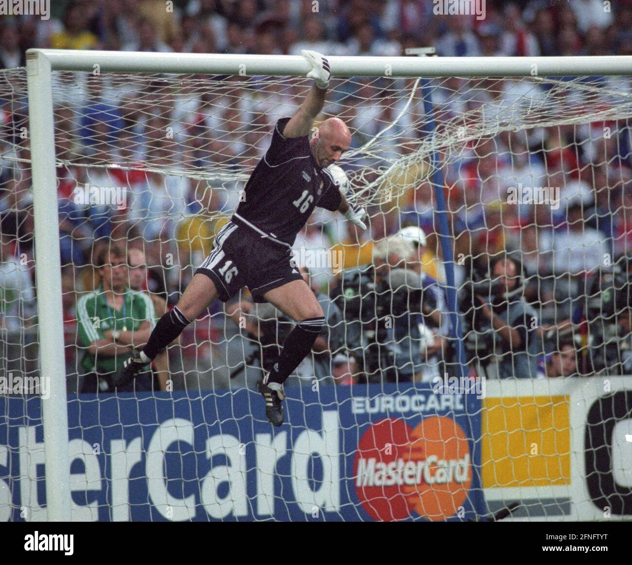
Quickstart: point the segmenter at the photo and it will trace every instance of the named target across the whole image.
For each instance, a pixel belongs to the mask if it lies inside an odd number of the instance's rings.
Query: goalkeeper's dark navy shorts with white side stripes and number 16
[[[213,249],[195,274],[209,277],[219,299],[226,302],[247,286],[255,302],[287,282],[302,280],[291,249],[262,237],[245,224],[231,220],[215,238]]]

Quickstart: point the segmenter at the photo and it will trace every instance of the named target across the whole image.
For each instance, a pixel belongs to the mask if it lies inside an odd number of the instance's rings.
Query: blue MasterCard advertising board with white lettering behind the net
[[[467,520],[481,401],[428,385],[69,397],[73,519]],[[46,518],[40,399],[0,398],[0,518]]]

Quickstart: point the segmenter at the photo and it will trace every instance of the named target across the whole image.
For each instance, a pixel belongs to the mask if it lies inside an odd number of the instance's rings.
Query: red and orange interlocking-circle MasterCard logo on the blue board
[[[362,435],[354,471],[358,499],[373,519],[440,521],[458,512],[470,490],[470,446],[451,418],[430,416],[415,428],[386,418]]]

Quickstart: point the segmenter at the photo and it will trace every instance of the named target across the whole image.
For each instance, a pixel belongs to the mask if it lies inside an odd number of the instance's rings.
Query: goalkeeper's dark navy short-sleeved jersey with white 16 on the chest
[[[316,206],[335,212],[342,197],[331,173],[316,163],[307,135],[283,137],[289,119],[277,121],[270,147],[250,175],[233,221],[292,246]]]

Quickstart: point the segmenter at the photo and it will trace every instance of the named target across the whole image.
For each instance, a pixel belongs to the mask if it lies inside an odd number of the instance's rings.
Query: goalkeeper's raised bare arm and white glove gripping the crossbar
[[[314,83],[310,92],[307,93],[303,104],[292,116],[283,130],[284,137],[303,137],[309,135],[316,116],[320,114],[325,104],[325,96],[329,87],[329,61],[320,53],[315,51],[301,51],[301,54],[308,63],[312,65],[312,70],[307,73],[308,78],[313,78]]]

